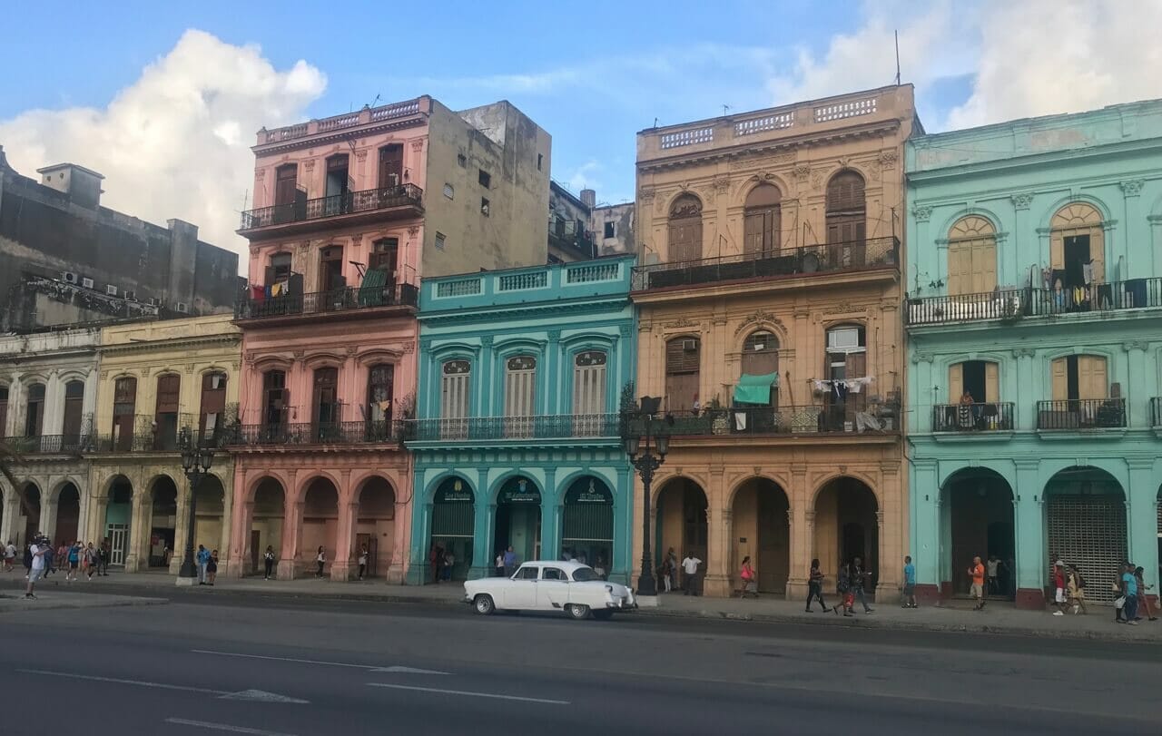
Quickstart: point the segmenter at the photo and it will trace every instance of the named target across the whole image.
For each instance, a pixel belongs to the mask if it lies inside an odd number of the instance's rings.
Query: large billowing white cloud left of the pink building
[[[245,262],[234,230],[253,186],[253,132],[302,120],[325,87],[306,62],[279,71],[256,45],[189,30],[105,109],[29,110],[0,121],[0,144],[34,178],[62,161],[99,171],[102,204],[159,224],[191,222]]]

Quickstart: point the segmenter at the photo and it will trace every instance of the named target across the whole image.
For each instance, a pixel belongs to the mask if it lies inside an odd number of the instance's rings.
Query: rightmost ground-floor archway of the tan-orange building
[[[827,482],[815,498],[815,553],[829,582],[841,564],[856,557],[871,573],[867,592],[880,572],[880,525],[875,493],[862,481],[841,476]]]

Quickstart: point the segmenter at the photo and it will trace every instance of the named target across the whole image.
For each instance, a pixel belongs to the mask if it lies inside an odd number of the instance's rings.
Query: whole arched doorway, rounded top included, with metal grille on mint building
[[[1053,564],[1061,560],[1082,571],[1086,598],[1112,602],[1112,584],[1128,558],[1121,484],[1088,466],[1055,474],[1045,485],[1045,532],[1047,585],[1053,585]]]

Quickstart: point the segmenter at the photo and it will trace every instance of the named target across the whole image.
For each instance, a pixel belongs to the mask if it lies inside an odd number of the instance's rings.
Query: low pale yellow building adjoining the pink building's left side
[[[237,423],[242,333],[230,315],[101,331],[86,539],[107,539],[127,571],[177,571],[189,484],[180,440],[224,442]],[[234,463],[223,450],[198,489],[194,543],[229,549]],[[170,551],[167,553],[166,549]]]

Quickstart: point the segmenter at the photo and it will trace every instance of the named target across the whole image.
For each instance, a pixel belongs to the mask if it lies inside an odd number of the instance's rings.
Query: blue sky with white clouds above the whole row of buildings
[[[78,159],[108,176],[112,205],[191,219],[236,247],[253,130],[376,95],[426,93],[453,108],[508,99],[553,136],[554,179],[609,202],[633,197],[634,134],[655,118],[890,84],[894,29],[930,131],[1162,96],[1162,0],[42,0],[6,3],[3,27],[0,68],[20,70],[0,78],[0,145],[14,165]],[[178,55],[191,29],[214,43]],[[300,60],[317,84],[281,94]],[[206,109],[181,120],[167,88],[195,89]],[[207,127],[216,138],[202,139]],[[179,167],[208,169],[187,174],[194,196],[168,194]]]

